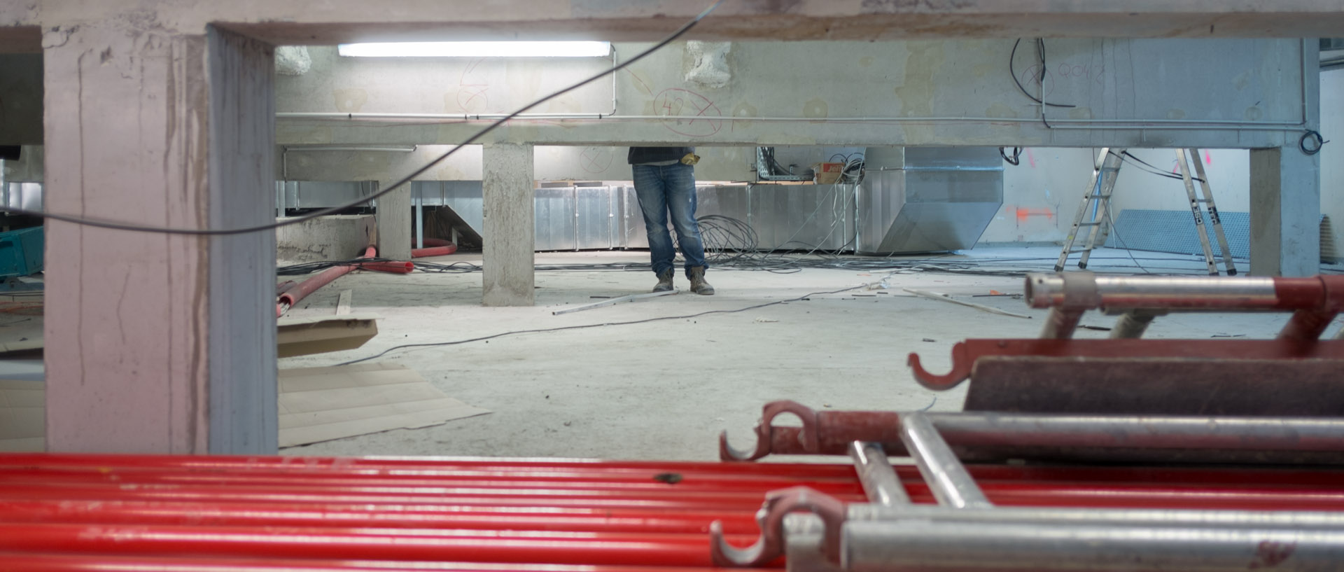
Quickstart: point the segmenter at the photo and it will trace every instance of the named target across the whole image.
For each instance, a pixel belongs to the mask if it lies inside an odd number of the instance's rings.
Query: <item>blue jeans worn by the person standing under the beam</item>
[[[685,267],[706,266],[700,226],[695,222],[695,168],[691,165],[630,165],[634,172],[634,195],[644,211],[644,228],[649,235],[649,259],[655,274],[672,270],[676,248],[668,234],[668,212],[681,247]]]

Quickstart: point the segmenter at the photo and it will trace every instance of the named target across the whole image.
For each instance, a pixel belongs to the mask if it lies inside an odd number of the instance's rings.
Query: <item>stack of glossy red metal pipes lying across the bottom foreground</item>
[[[1003,506],[1344,510],[1341,470],[968,469]],[[914,467],[896,474],[934,502]],[[832,463],[0,454],[0,561],[700,572],[710,522],[745,545],[765,493],[801,483],[864,502],[853,467]]]

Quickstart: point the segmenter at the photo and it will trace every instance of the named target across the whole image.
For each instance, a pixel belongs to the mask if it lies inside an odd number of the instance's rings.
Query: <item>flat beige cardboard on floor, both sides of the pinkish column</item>
[[[0,379],[0,451],[46,450],[46,385]],[[458,401],[399,365],[356,364],[280,372],[280,446],[489,414]],[[370,451],[375,452],[375,451]]]

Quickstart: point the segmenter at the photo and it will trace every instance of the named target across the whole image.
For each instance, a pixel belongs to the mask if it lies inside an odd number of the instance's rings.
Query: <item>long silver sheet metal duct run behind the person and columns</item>
[[[1003,160],[995,148],[875,148],[868,154],[862,185],[699,185],[698,213],[747,223],[761,250],[887,254],[970,248],[1003,205]],[[290,208],[337,196],[321,195],[325,187],[313,183],[285,185],[294,185]],[[358,183],[328,185],[344,189],[340,196],[363,191],[349,187]],[[411,189],[422,205],[449,207],[482,234],[480,181],[415,181]],[[630,184],[543,184],[535,200],[539,251],[649,246]]]

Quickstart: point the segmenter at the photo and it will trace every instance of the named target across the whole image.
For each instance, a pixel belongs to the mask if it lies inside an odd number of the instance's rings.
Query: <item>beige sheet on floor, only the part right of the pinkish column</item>
[[[280,372],[280,446],[417,428],[488,414],[399,365],[356,364]]]

